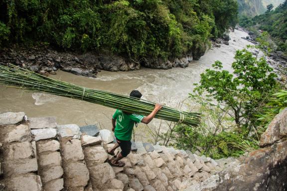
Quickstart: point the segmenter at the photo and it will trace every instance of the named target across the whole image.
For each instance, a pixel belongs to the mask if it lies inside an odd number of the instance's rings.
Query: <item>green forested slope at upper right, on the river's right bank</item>
[[[278,49],[287,52],[287,0],[275,10],[266,11],[252,19],[242,19],[240,25],[267,31],[278,44]]]

